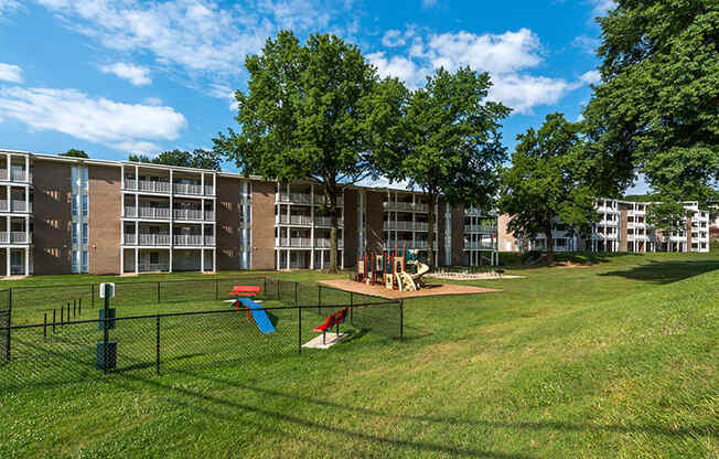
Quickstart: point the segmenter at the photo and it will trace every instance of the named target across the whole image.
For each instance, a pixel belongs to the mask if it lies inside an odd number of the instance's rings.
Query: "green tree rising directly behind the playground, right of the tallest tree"
[[[397,122],[390,125],[394,142],[382,157],[382,168],[390,179],[407,180],[410,188],[419,189],[429,203],[430,266],[440,196],[452,205],[491,209],[494,204],[506,158],[500,121],[511,109],[486,100],[491,85],[487,73],[439,68],[423,88],[411,93],[399,107]]]

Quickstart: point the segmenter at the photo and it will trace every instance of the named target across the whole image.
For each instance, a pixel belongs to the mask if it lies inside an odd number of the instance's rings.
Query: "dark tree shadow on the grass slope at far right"
[[[655,261],[630,269],[602,273],[599,276],[623,277],[653,284],[672,284],[688,277],[719,269],[719,261]]]

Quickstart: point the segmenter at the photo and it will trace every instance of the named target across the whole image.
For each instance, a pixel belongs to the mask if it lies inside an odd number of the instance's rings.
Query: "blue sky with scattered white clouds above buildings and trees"
[[[507,148],[547,114],[580,117],[611,0],[0,0],[0,148],[92,158],[212,148],[236,127],[247,54],[290,29],[357,44],[410,87],[489,72]],[[232,164],[224,169],[233,170]],[[642,191],[642,184],[633,191]]]

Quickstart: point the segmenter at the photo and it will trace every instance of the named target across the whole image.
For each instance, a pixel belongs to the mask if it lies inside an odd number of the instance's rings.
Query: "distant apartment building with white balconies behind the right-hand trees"
[[[646,223],[651,203],[599,199],[597,222],[591,225],[589,238],[582,239],[576,231],[559,220],[555,221],[552,238],[555,252],[709,252],[709,212],[697,202],[686,202],[686,227],[677,232],[653,231]],[[545,250],[544,234],[529,241],[518,241],[507,231],[507,215],[500,216],[500,250]]]

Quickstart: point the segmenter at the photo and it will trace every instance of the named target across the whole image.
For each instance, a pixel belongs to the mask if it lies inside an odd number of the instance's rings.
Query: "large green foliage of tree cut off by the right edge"
[[[584,118],[587,158],[602,192],[620,192],[642,172],[663,200],[712,199],[719,179],[719,2],[619,0],[598,21],[602,81]]]

